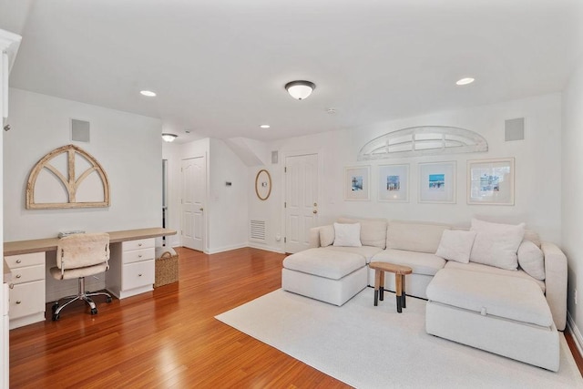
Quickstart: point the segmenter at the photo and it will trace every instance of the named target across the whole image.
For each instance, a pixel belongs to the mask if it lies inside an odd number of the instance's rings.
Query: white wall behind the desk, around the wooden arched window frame
[[[70,118],[90,122],[89,143],[71,142]],[[56,237],[59,231],[128,230],[161,225],[161,124],[158,119],[10,89],[4,134],[5,241]],[[74,143],[107,173],[111,206],[26,210],[26,180],[36,162]]]

